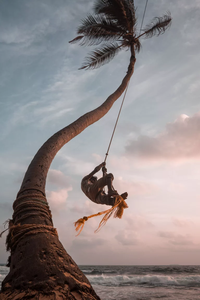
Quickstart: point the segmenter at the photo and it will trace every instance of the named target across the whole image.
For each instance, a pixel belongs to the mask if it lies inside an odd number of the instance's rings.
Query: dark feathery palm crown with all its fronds
[[[131,45],[135,52],[141,49],[140,38],[160,35],[171,26],[169,10],[153,18],[139,34],[133,0],[95,0],[94,14],[88,14],[77,28],[77,36],[69,43],[81,46],[99,45],[85,57],[80,69],[96,69],[111,61],[122,49]]]

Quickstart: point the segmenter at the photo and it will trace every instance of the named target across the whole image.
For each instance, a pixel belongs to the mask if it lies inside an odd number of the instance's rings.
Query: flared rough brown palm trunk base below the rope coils
[[[0,300],[100,300],[87,277],[50,233],[23,238],[11,253]]]

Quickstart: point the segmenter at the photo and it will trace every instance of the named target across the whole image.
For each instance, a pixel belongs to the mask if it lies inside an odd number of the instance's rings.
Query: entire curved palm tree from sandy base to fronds
[[[124,92],[133,74],[135,53],[141,49],[140,38],[164,33],[172,18],[168,11],[154,18],[138,35],[133,0],[96,0],[93,8],[94,14],[81,20],[79,36],[71,43],[102,45],[89,53],[81,68],[100,67],[122,49],[130,49],[128,71],[121,85],[102,105],[55,133],[31,161],[13,204],[13,219],[9,221],[6,245],[11,254],[10,272],[2,282],[0,300],[100,299],[53,228],[44,192],[47,172],[62,146],[102,118]]]

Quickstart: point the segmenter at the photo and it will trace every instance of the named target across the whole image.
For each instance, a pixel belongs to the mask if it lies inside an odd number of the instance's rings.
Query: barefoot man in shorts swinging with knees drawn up
[[[118,193],[112,188],[112,181],[114,179],[112,173],[106,174],[98,180],[97,176],[94,176],[94,174],[99,172],[102,167],[105,167],[105,165],[106,163],[103,162],[89,175],[83,177],[81,181],[81,189],[92,202],[113,206],[115,204],[115,196],[117,196]],[[106,194],[103,190],[106,185],[108,187],[108,194]],[[125,192],[121,194],[121,197],[124,200],[127,199],[128,193]]]

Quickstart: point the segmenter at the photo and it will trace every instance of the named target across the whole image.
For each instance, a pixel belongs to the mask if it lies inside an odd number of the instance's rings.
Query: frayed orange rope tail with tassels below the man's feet
[[[79,233],[76,235],[78,236],[82,229],[83,226],[85,224],[85,221],[87,221],[88,219],[92,218],[92,217],[96,217],[96,216],[100,216],[101,214],[105,214],[105,216],[103,217],[103,219],[101,220],[99,227],[94,231],[94,233],[97,233],[107,222],[107,220],[114,214],[113,218],[122,218],[123,212],[124,212],[124,208],[128,208],[127,203],[124,201],[124,199],[118,195],[115,197],[115,204],[112,206],[112,208],[109,208],[105,211],[101,211],[98,212],[97,214],[92,214],[91,216],[88,217],[83,217],[81,219],[79,219],[78,221],[74,222],[74,226],[76,227],[76,231],[79,231]]]

